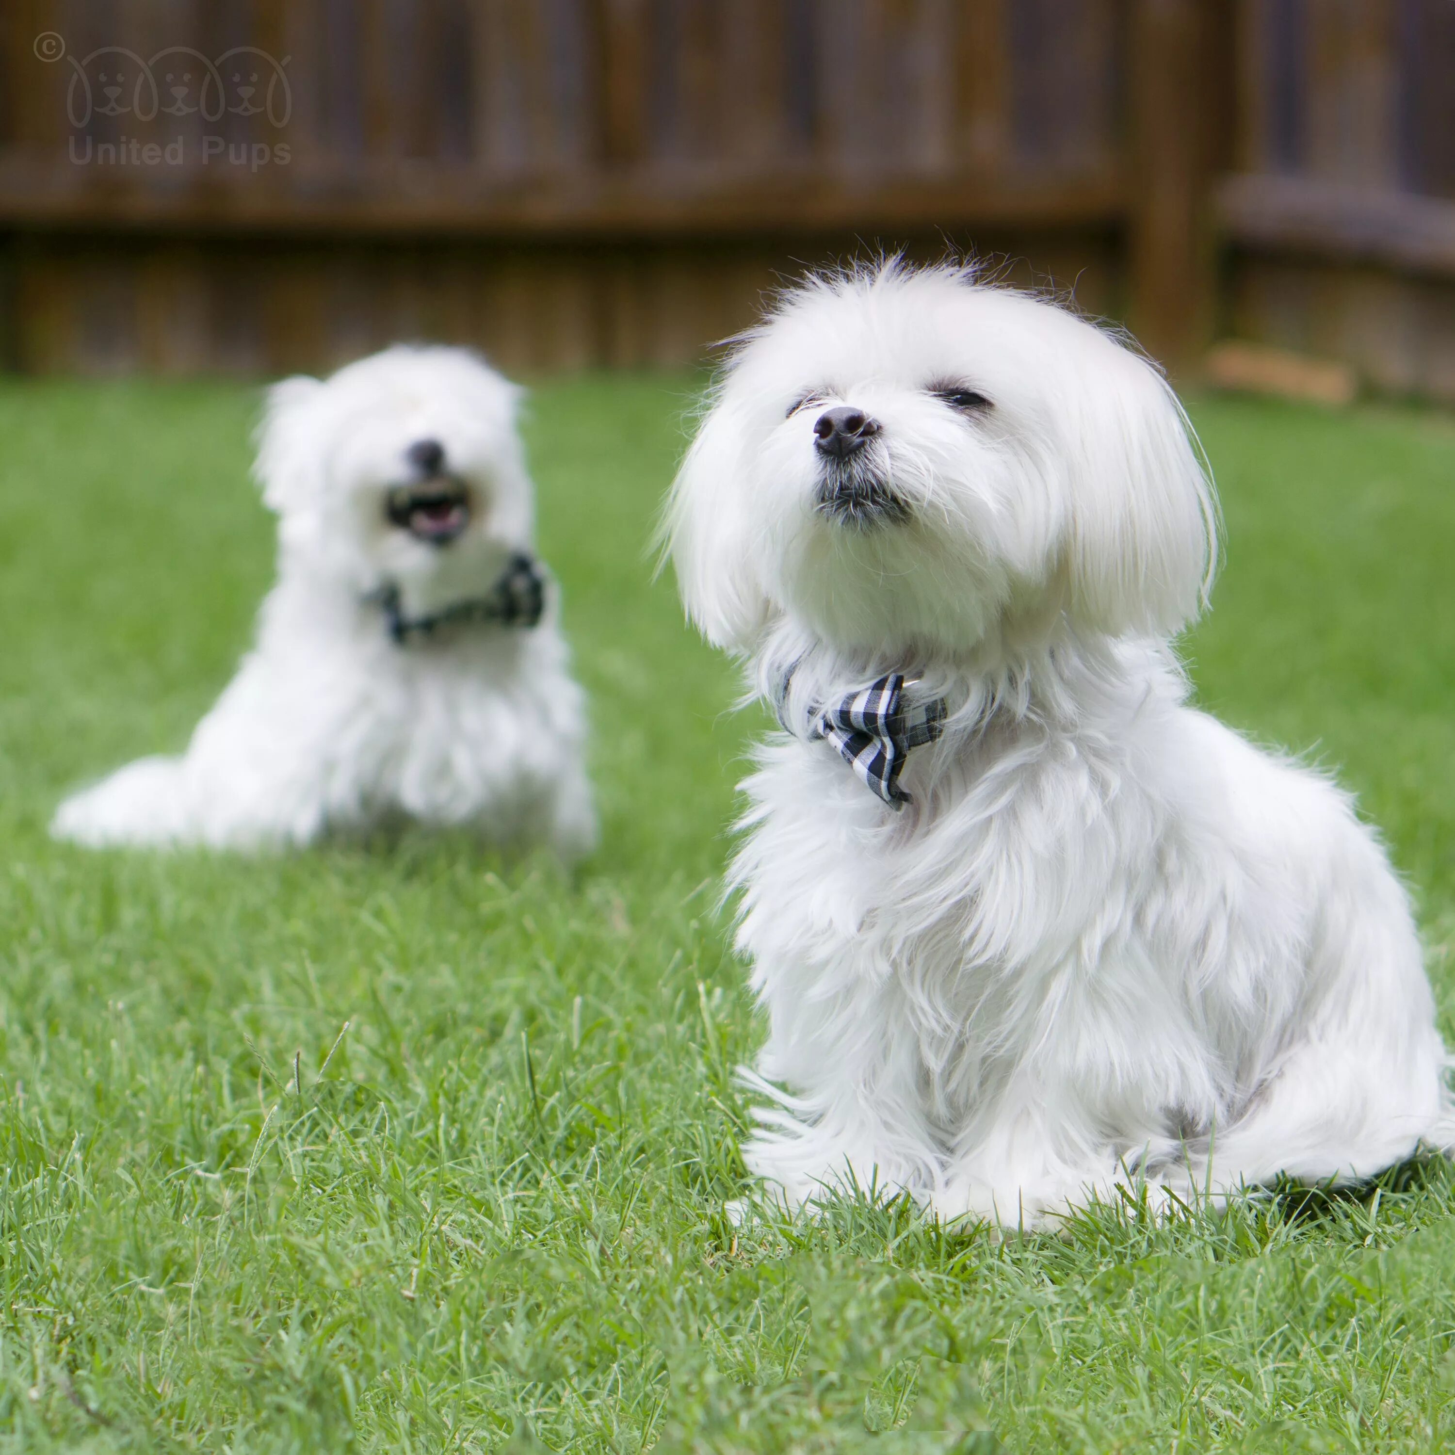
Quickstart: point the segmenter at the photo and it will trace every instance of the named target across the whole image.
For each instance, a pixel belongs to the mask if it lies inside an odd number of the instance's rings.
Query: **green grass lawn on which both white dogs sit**
[[[550,384],[544,554],[604,813],[567,879],[457,838],[52,845],[247,642],[253,396],[0,387],[0,1451],[1438,1451],[1455,1177],[1069,1238],[902,1205],[735,1235],[761,1027],[716,883],[752,714],[645,559],[693,381]],[[1337,767],[1455,1037],[1455,426],[1195,407],[1199,693]]]

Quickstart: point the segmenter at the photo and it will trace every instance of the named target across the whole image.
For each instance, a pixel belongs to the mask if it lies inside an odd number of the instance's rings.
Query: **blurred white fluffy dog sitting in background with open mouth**
[[[585,707],[531,554],[518,397],[445,348],[275,386],[256,646],[180,758],[68,799],[54,832],[258,848],[416,819],[586,851]]]

